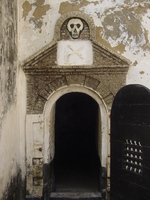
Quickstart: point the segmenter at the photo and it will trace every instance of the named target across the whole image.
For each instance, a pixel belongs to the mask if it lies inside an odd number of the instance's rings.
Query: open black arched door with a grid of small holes
[[[150,91],[128,85],[111,112],[111,200],[150,199]]]

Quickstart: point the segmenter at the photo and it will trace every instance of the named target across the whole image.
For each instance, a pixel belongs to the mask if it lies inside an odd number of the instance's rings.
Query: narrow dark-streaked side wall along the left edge
[[[14,199],[19,177],[17,1],[0,3],[0,199]]]

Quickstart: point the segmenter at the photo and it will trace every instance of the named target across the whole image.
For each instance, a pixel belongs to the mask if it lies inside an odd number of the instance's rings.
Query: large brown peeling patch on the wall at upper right
[[[120,10],[106,10],[104,13],[101,31],[104,40],[114,42],[116,51],[125,52],[125,47],[136,46],[137,49],[150,49],[148,43],[148,32],[142,25],[142,16],[147,12],[148,5],[137,4],[135,6],[126,5]],[[137,17],[138,16],[138,17]]]

